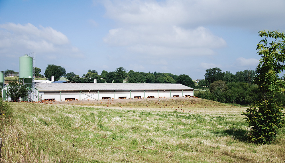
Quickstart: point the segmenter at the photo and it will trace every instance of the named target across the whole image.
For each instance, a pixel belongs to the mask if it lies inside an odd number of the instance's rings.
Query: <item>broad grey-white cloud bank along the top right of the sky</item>
[[[126,24],[227,25],[276,28],[285,1],[272,0],[105,0],[106,16]],[[266,5],[264,5],[266,4]],[[278,4],[278,5],[276,5]],[[274,9],[274,10],[269,10]],[[274,23],[275,22],[275,23]],[[284,22],[281,24],[285,24]],[[280,26],[282,27],[282,26]],[[277,27],[278,28],[278,27]]]

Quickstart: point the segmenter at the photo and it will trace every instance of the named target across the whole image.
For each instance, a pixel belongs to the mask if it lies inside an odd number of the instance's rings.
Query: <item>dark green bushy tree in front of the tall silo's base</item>
[[[13,80],[8,83],[7,96],[11,97],[11,101],[19,101],[19,98],[25,97],[28,94],[27,86],[18,80]]]

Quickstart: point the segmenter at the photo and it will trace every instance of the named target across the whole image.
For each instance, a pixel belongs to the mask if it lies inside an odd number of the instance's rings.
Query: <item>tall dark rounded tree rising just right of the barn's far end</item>
[[[225,75],[225,72],[222,73],[222,70],[220,68],[210,68],[206,70],[205,73],[205,82],[207,83],[207,86],[209,86],[214,81],[222,80]]]

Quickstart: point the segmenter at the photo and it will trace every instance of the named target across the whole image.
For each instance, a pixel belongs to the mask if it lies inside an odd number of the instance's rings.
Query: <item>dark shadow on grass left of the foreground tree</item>
[[[245,129],[231,128],[231,129],[227,129],[225,131],[218,131],[215,134],[219,134],[219,135],[223,135],[223,136],[229,135],[229,136],[232,136],[233,139],[235,139],[235,140],[248,142],[249,132]]]

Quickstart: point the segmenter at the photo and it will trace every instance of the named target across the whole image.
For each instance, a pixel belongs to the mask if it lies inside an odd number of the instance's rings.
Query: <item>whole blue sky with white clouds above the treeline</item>
[[[0,0],[0,71],[34,52],[44,74],[56,64],[187,74],[254,70],[261,30],[285,30],[284,0]]]

